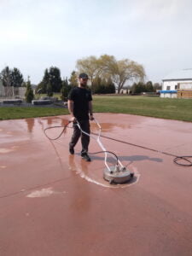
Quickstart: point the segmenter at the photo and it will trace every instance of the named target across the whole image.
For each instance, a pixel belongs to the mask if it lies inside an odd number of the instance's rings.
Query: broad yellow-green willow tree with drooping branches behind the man
[[[90,76],[91,84],[93,79],[112,79],[119,91],[129,80],[143,80],[145,71],[142,65],[129,59],[117,61],[113,55],[102,55],[100,58],[90,56],[77,61],[79,72],[87,73]]]

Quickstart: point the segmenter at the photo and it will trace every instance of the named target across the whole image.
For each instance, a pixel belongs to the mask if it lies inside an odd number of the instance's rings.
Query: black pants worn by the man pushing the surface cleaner
[[[79,121],[79,125],[81,129],[87,133],[90,134],[90,121],[89,120],[81,120]],[[79,141],[79,137],[81,137],[81,145],[82,145],[82,150],[81,154],[86,154],[88,152],[88,146],[90,144],[90,137],[83,132],[79,130],[78,125],[76,123],[73,123],[73,136],[71,139],[71,142],[69,143],[70,148],[74,148],[75,145]]]

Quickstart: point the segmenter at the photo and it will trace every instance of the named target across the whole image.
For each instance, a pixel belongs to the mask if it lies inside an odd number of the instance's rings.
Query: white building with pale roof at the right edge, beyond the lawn
[[[192,97],[192,68],[170,73],[162,81],[161,97]]]

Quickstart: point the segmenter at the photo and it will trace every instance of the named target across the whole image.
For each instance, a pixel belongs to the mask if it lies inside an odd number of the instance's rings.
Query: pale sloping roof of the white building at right
[[[186,69],[172,72],[162,80],[169,81],[169,80],[190,80],[190,79],[192,80],[192,68],[186,68]]]

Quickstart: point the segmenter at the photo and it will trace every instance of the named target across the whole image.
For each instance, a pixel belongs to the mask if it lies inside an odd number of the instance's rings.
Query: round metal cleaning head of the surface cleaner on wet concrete
[[[116,166],[110,166],[104,169],[103,177],[109,183],[127,183],[129,182],[132,177],[134,177],[134,173],[126,170],[126,168],[121,168],[117,170]]]

